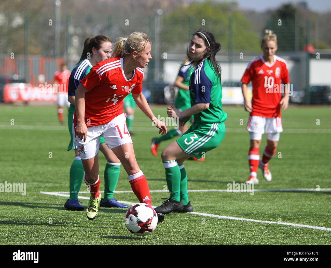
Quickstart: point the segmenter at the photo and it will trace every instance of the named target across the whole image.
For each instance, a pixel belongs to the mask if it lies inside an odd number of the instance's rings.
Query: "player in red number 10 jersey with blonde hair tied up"
[[[275,154],[280,133],[283,132],[281,109],[285,110],[289,102],[290,80],[287,64],[284,59],[275,55],[278,48],[277,36],[271,30],[266,30],[266,33],[261,44],[263,55],[248,64],[241,79],[245,110],[250,112],[247,124],[250,133],[250,176],[246,184],[259,183],[258,167],[262,170],[263,178],[271,181],[268,161]],[[252,102],[247,98],[247,84],[250,81],[253,87]],[[259,147],[263,133],[267,134],[267,145],[260,159]]]

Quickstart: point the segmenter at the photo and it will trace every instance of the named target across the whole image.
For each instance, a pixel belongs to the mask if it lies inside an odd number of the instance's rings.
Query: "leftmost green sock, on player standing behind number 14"
[[[69,200],[77,199],[80,186],[82,185],[84,168],[79,156],[75,157],[70,167],[69,176]]]

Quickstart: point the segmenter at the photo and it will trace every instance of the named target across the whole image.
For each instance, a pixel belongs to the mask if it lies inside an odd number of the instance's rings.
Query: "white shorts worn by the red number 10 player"
[[[281,117],[262,117],[249,116],[247,129],[250,133],[251,140],[261,140],[262,134],[267,134],[267,139],[279,141],[279,133],[283,132]]]

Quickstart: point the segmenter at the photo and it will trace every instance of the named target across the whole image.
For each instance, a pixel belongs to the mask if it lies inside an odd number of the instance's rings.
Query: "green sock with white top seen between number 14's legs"
[[[104,201],[114,197],[114,191],[118,182],[120,163],[107,162],[105,167],[105,194]]]

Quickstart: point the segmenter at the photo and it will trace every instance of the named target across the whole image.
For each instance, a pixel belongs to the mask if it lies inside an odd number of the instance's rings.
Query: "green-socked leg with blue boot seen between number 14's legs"
[[[107,164],[105,167],[104,178],[105,178],[105,192],[104,198],[101,198],[100,207],[121,207],[127,208],[127,205],[118,203],[114,198],[114,191],[119,177],[120,161],[114,152],[108,149],[107,144],[100,143],[100,151],[105,155]]]

